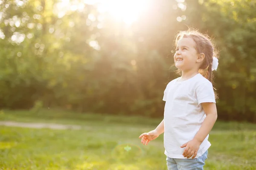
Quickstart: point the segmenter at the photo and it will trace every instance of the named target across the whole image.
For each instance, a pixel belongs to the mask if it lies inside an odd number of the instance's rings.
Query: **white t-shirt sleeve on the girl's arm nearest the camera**
[[[204,82],[199,85],[196,89],[196,96],[198,99],[198,105],[206,102],[216,103],[211,82]]]

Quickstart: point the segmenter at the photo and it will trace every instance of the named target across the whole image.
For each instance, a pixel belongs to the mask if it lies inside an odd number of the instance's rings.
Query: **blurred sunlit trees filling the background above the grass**
[[[174,37],[214,39],[218,119],[256,122],[255,0],[0,0],[0,108],[162,117]]]

